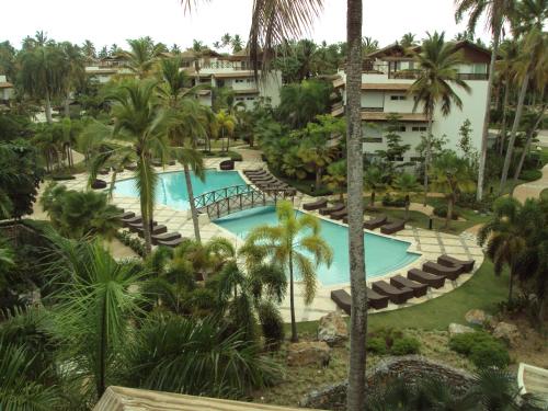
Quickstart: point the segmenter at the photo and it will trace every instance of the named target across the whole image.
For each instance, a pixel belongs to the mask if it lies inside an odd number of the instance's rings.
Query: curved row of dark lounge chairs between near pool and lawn
[[[422,270],[410,270],[407,277],[396,275],[390,283],[374,282],[372,288],[367,288],[368,307],[383,309],[388,307],[389,301],[399,305],[413,297],[423,297],[429,287],[443,287],[445,279],[455,281],[460,274],[471,272],[473,264],[475,260],[463,261],[444,254],[437,258],[437,262],[424,263]],[[331,292],[331,299],[350,316],[352,299],[346,290]]]

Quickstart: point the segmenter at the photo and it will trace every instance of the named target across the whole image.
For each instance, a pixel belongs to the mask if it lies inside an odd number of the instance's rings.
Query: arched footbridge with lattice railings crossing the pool
[[[260,190],[251,184],[241,184],[204,193],[194,198],[194,205],[198,213],[215,219],[244,209],[276,205],[283,199],[293,202],[296,194],[295,189]]]

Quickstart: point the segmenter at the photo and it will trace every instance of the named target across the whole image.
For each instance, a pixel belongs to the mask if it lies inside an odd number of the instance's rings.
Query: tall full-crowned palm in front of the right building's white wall
[[[463,109],[463,101],[455,93],[452,83],[470,92],[470,87],[458,77],[458,65],[463,62],[459,54],[455,53],[452,43],[445,43],[444,33],[437,32],[424,41],[421,53],[414,53],[421,73],[411,85],[409,93],[416,96],[413,112],[422,104],[426,115],[426,152],[424,158],[424,205],[429,195],[429,173],[432,157],[432,124],[436,105],[441,103],[442,114],[449,115],[452,105]]]

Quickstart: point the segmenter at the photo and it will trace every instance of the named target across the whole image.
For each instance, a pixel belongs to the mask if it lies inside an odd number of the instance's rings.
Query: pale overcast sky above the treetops
[[[324,0],[326,7],[313,31],[317,42],[345,38],[344,0]],[[185,15],[180,0],[2,0],[0,1],[0,41],[19,47],[26,35],[43,30],[56,41],[82,43],[91,39],[96,48],[116,43],[125,47],[127,38],[149,35],[156,42],[189,47],[192,39],[210,45],[225,33],[247,38],[252,0],[203,1]],[[422,38],[426,31],[445,31],[447,38],[464,30],[455,24],[454,0],[364,0],[364,36],[392,43],[411,32]],[[483,24],[478,35],[486,43]]]

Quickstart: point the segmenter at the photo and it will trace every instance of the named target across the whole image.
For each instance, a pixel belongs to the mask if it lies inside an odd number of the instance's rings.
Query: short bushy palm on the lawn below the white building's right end
[[[457,195],[475,189],[471,167],[467,160],[457,157],[455,152],[445,151],[434,160],[432,183],[436,190],[446,193],[447,216],[445,218],[445,228],[449,228]]]

